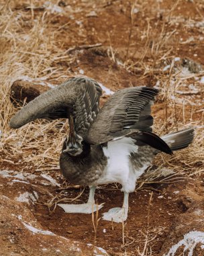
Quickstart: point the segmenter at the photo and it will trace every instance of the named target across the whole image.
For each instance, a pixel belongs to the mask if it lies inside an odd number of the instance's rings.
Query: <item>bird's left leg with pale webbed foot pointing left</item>
[[[89,199],[87,203],[83,204],[64,204],[64,203],[58,203],[62,209],[64,209],[64,212],[66,213],[72,213],[72,214],[91,214],[92,212],[96,212],[97,210],[100,210],[103,207],[103,203],[100,205],[96,205],[94,201],[94,194],[95,194],[96,187],[90,187],[89,191]]]

